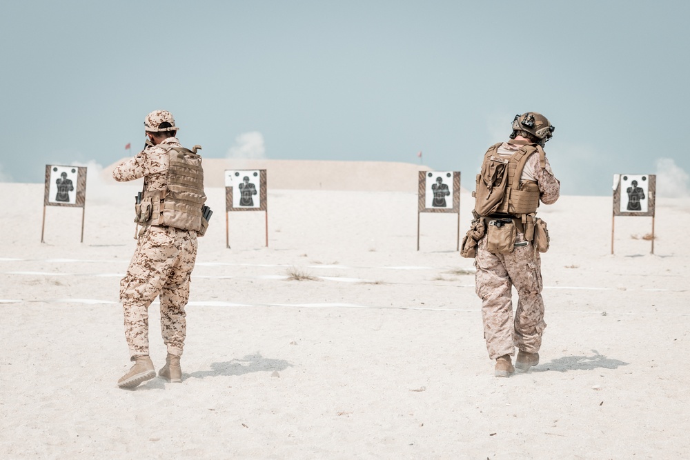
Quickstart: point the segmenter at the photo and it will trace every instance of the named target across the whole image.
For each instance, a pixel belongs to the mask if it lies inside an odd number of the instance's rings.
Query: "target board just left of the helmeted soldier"
[[[420,171],[419,212],[460,214],[460,172]]]

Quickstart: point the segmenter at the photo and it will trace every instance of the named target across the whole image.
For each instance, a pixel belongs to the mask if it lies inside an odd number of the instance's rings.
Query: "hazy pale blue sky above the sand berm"
[[[459,170],[535,110],[565,194],[687,193],[690,2],[0,0],[0,180],[108,166],[166,109],[206,157]],[[664,175],[665,174],[665,175]],[[658,188],[662,181],[658,177]],[[668,189],[671,190],[671,189]]]

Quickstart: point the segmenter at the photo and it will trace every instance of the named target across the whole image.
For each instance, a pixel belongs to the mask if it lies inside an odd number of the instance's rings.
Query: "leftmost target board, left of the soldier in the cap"
[[[86,168],[46,165],[44,206],[74,206],[86,203]]]

